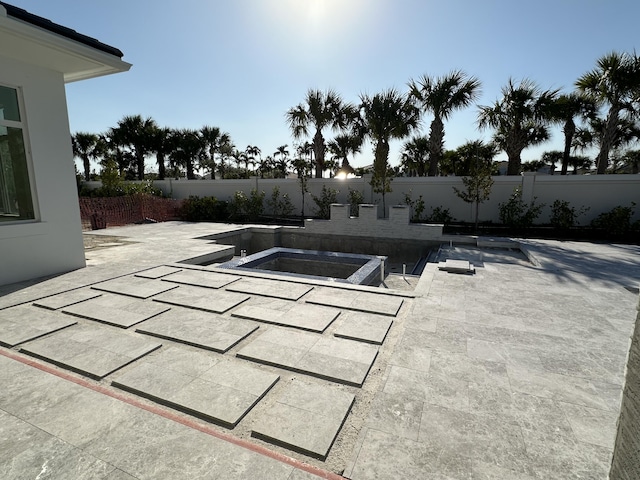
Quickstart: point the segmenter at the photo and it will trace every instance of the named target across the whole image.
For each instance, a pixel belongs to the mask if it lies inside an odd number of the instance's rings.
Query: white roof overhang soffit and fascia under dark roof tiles
[[[7,15],[0,5],[0,55],[61,72],[65,83],[126,72],[131,64]]]

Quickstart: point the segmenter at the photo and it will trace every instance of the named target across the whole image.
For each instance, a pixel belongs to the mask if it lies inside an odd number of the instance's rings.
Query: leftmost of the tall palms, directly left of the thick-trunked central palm
[[[325,142],[322,131],[326,128],[342,130],[355,118],[355,108],[345,104],[333,90],[322,92],[310,89],[304,103],[291,108],[286,113],[287,123],[293,137],[299,139],[311,136],[313,131],[313,152],[316,160],[316,177],[322,178],[324,168]]]

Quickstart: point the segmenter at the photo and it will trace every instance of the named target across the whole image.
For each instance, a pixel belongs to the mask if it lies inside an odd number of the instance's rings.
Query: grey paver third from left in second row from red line
[[[247,320],[173,308],[139,325],[136,331],[224,353],[258,329]]]

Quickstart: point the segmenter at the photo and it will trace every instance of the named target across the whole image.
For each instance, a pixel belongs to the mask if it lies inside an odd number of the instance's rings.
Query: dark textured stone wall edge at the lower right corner
[[[610,480],[640,478],[640,298],[637,310],[636,325],[627,359],[618,433],[609,472]]]

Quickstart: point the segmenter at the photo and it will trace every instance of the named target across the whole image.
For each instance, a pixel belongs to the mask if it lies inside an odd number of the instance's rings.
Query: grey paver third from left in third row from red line
[[[340,315],[340,310],[295,303],[292,304],[289,310],[276,310],[258,305],[242,305],[231,315],[301,330],[324,332]]]

